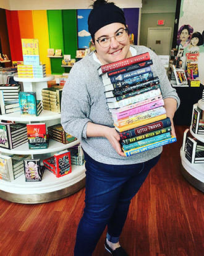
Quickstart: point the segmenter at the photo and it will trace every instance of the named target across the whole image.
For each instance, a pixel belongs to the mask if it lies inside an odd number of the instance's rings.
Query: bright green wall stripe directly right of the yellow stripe
[[[64,54],[64,39],[63,39],[63,25],[62,25],[62,10],[48,10],[48,31],[49,31],[49,47],[62,49]],[[51,72],[52,74],[64,73],[64,68],[61,67],[61,58],[51,58]]]

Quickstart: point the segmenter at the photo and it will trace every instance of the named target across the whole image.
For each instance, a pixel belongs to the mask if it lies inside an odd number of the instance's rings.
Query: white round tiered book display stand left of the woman
[[[41,99],[41,89],[47,87],[47,81],[54,79],[54,76],[46,76],[43,78],[22,78],[14,76],[15,81],[23,82],[24,91],[35,91],[37,99]],[[46,126],[60,123],[61,115],[51,111],[43,110],[38,116],[22,117],[20,112],[0,115],[1,120],[19,121],[24,123],[35,123],[43,121]],[[51,153],[68,149],[75,144],[79,144],[79,140],[69,144],[62,144],[53,139],[49,139],[49,146],[46,149],[28,149],[28,143],[22,144],[15,149],[1,148],[2,153],[9,154],[30,154],[43,159],[51,156]],[[0,197],[14,203],[45,203],[48,201],[59,200],[66,196],[72,195],[85,185],[85,166],[72,165],[72,172],[63,177],[55,177],[48,170],[43,175],[41,182],[25,182],[24,175],[21,175],[12,182],[0,180]]]

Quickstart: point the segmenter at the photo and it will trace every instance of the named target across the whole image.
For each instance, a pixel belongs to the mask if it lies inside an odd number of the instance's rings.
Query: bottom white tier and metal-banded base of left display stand
[[[46,170],[41,182],[25,182],[24,175],[12,182],[0,180],[0,197],[14,203],[46,203],[72,195],[84,185],[84,164],[83,166],[72,165],[72,172],[60,178],[56,178]]]

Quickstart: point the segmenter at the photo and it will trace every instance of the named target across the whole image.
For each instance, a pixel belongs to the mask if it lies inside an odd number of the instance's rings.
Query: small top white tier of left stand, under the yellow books
[[[24,92],[36,92],[36,97],[38,100],[42,99],[41,89],[48,87],[48,81],[54,79],[54,76],[49,74],[46,77],[41,78],[28,78],[14,76],[14,80],[17,82],[23,82]]]

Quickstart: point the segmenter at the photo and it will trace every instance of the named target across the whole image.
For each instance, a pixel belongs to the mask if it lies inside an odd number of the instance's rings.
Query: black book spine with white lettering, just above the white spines
[[[149,86],[154,86],[155,84],[159,84],[159,78],[155,77],[155,79],[147,81],[147,82],[137,82],[136,84],[124,86],[121,89],[114,89],[113,90],[113,95],[122,95],[122,94],[127,94],[128,92],[133,92],[134,90],[139,90],[142,88],[146,88]]]

